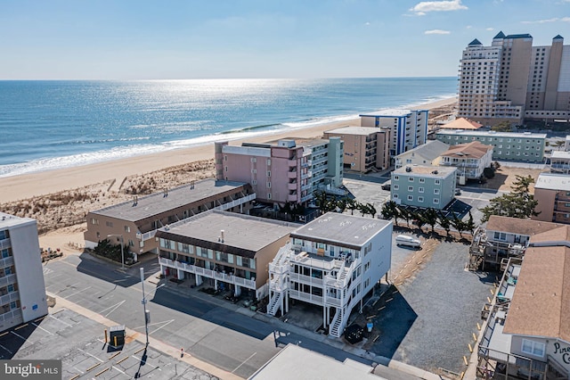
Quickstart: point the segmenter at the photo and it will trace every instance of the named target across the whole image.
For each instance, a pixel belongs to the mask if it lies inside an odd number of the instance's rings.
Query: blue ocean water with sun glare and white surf
[[[0,177],[350,120],[457,78],[0,81]]]

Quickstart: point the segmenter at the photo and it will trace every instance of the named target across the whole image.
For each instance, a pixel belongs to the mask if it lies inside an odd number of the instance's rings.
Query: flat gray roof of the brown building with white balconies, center
[[[157,236],[215,251],[253,258],[256,252],[295,230],[299,225],[227,211],[205,211],[159,228]],[[224,241],[221,239],[224,231]]]

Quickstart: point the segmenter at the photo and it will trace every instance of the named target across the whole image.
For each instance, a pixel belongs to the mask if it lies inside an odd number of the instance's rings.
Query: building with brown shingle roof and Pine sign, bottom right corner
[[[530,237],[524,260],[509,259],[485,304],[477,378],[570,378],[570,227]]]

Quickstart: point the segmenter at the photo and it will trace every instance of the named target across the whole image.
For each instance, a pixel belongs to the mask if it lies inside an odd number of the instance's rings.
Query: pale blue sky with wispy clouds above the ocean
[[[500,30],[570,41],[570,0],[1,0],[0,79],[454,77]]]

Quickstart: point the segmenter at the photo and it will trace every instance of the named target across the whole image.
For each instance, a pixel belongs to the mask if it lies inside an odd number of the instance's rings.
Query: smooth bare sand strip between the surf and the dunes
[[[439,100],[433,103],[420,104],[410,107],[411,110],[428,109],[449,106],[457,103],[457,97]],[[341,128],[349,125],[360,125],[360,119],[335,121],[323,123],[307,128],[296,128],[288,131],[272,131],[254,137],[228,139],[233,145],[241,142],[265,142],[268,139],[279,139],[289,136],[299,138],[314,138],[322,136],[329,129]],[[224,138],[220,139],[221,141]],[[167,169],[191,162],[211,160],[214,158],[212,143],[195,145],[187,148],[174,149],[164,153],[151,153],[128,157],[124,159],[102,161],[93,164],[76,166],[64,169],[38,171],[11,177],[0,178],[2,189],[2,203],[26,200],[45,194],[58,193],[78,187],[101,184],[106,181],[115,181],[120,184],[125,178],[142,175]]]

